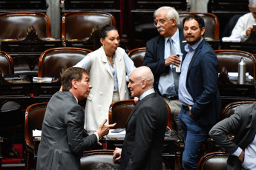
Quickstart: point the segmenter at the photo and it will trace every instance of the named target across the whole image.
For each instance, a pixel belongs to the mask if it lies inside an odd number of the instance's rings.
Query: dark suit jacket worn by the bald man
[[[168,110],[154,92],[145,96],[131,112],[122,145],[121,169],[162,169],[163,140]]]

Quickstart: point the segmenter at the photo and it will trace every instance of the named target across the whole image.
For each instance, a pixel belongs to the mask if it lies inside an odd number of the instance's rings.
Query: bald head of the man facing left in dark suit
[[[129,81],[128,88],[131,90],[131,96],[139,98],[143,92],[153,88],[154,75],[150,68],[142,66],[131,72]]]

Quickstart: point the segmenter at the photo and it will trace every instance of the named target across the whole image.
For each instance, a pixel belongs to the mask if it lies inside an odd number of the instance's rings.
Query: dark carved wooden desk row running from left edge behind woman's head
[[[64,41],[54,38],[39,38],[36,30],[31,26],[27,37],[21,39],[0,40],[0,50],[9,53],[13,58],[15,74],[38,75],[39,58],[45,50],[56,47],[79,47],[94,50],[93,38],[71,39]],[[126,50],[126,40],[120,40],[120,47]]]

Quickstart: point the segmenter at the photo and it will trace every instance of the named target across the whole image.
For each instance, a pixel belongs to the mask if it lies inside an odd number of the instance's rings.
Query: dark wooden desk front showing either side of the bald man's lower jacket
[[[122,148],[124,138],[106,138],[106,149],[115,150],[116,147]],[[165,137],[163,143],[163,162],[168,169],[175,169],[175,149],[174,143],[178,140],[177,135],[171,135],[171,137]]]

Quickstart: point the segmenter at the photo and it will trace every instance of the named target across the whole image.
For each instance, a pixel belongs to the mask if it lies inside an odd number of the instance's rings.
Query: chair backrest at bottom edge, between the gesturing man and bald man
[[[120,169],[119,164],[115,164],[113,162],[113,152],[114,150],[108,149],[99,149],[84,152],[80,159],[80,169]]]

